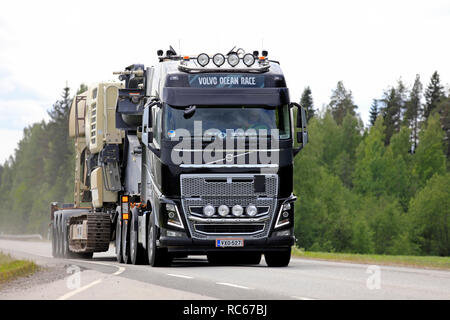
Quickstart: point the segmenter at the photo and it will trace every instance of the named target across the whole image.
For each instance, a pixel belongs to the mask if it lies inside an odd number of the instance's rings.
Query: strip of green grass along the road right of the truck
[[[305,259],[450,270],[450,257],[312,252],[298,248],[293,248],[292,255]]]

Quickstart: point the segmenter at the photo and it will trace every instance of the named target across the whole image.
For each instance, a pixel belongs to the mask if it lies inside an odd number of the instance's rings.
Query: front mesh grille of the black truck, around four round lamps
[[[217,235],[247,235],[251,238],[266,237],[276,210],[278,176],[275,174],[183,174],[180,177],[181,202],[193,238],[208,239]],[[229,214],[225,219],[213,216],[208,221],[198,221],[203,208],[211,204],[222,204],[231,208],[239,204],[250,204],[264,208],[258,218],[267,218],[260,222],[245,222],[250,217],[241,216],[239,222],[227,221],[236,218]],[[197,219],[195,219],[197,218]],[[206,217],[203,217],[206,218]],[[219,221],[220,220],[220,221]]]

